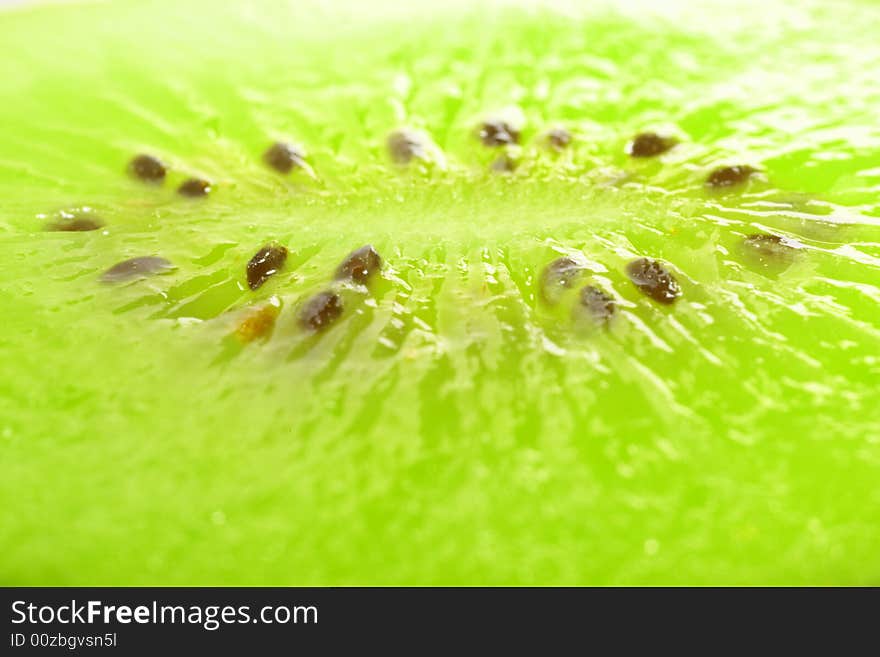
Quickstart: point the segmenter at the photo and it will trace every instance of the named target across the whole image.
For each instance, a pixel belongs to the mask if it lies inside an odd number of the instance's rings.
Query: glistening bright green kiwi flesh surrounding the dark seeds
[[[0,582],[880,582],[876,5],[223,4],[0,14]]]

